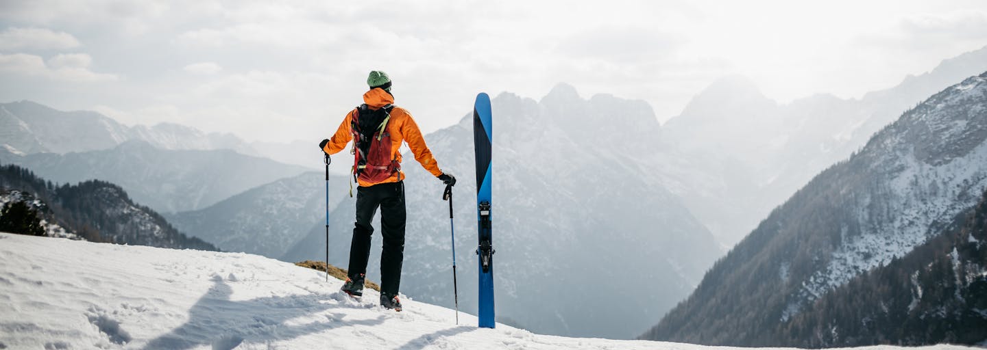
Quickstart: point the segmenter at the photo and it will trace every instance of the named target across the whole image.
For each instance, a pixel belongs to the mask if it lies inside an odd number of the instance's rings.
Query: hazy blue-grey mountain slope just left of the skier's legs
[[[212,243],[225,252],[279,258],[309,233],[325,227],[325,173],[306,172],[248,190],[220,203],[167,215],[183,232]],[[335,176],[330,209],[342,199],[346,178]]]

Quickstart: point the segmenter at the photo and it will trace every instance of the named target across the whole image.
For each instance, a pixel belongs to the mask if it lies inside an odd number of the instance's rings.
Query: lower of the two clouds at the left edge
[[[84,53],[59,54],[44,61],[37,55],[15,53],[0,54],[0,73],[44,77],[53,81],[95,83],[116,81],[112,74],[89,70],[93,58]]]

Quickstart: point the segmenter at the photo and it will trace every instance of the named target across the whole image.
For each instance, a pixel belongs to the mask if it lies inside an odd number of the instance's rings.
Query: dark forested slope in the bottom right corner
[[[785,342],[987,345],[987,192],[949,226],[903,258],[826,293],[786,324]]]

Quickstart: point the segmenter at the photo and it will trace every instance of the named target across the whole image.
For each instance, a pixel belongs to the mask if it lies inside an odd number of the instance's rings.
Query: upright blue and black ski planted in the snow
[[[493,236],[491,234],[491,97],[485,92],[477,95],[473,105],[473,145],[477,159],[477,217],[480,245],[480,324],[493,328]]]

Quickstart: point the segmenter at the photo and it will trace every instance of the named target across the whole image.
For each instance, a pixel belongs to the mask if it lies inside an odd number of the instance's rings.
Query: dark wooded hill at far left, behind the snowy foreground
[[[54,186],[28,169],[0,167],[0,207],[23,202],[38,211],[46,235],[163,248],[216,250],[188,237],[154,210],[135,204],[110,183]]]

